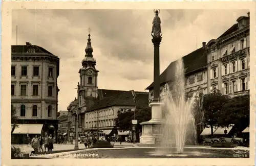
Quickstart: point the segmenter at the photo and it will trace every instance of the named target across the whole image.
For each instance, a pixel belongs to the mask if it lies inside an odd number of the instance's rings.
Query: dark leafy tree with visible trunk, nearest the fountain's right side
[[[228,102],[228,96],[221,94],[214,89],[209,94],[203,96],[204,124],[209,125],[211,135],[214,135],[214,126],[220,126],[218,120],[222,116],[222,107]]]

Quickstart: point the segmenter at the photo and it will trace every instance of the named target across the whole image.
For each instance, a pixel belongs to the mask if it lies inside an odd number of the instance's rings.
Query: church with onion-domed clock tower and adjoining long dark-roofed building
[[[135,110],[148,106],[148,93],[134,90],[109,90],[98,88],[98,70],[93,58],[91,38],[88,38],[86,55],[79,70],[80,82],[78,100],[68,106],[70,115],[69,129],[75,132],[76,112],[79,112],[79,132],[96,131],[98,128],[106,135],[124,134],[117,131],[115,118],[118,110]],[[80,111],[78,110],[80,108]],[[136,111],[136,110],[135,110]],[[113,130],[115,129],[115,130]],[[112,132],[113,131],[113,132]],[[127,133],[126,133],[127,134]]]

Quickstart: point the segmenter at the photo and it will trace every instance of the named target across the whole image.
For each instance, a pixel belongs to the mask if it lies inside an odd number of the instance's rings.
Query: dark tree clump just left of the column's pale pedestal
[[[128,111],[118,111],[117,112],[117,118],[116,118],[116,126],[118,127],[118,130],[121,131],[132,131],[132,120],[134,120],[134,114],[135,119],[138,120],[138,124],[136,125],[137,130],[141,130],[142,126],[140,125],[141,122],[146,122],[151,120],[151,107],[146,108],[140,108],[137,107],[135,110],[135,113],[133,110]]]

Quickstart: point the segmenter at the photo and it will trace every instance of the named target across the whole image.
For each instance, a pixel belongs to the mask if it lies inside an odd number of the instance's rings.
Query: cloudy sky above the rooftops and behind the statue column
[[[161,10],[160,73],[218,38],[248,10]],[[77,96],[79,68],[91,28],[98,87],[144,91],[153,81],[153,10],[13,10],[12,44],[31,42],[60,58],[59,110]]]

